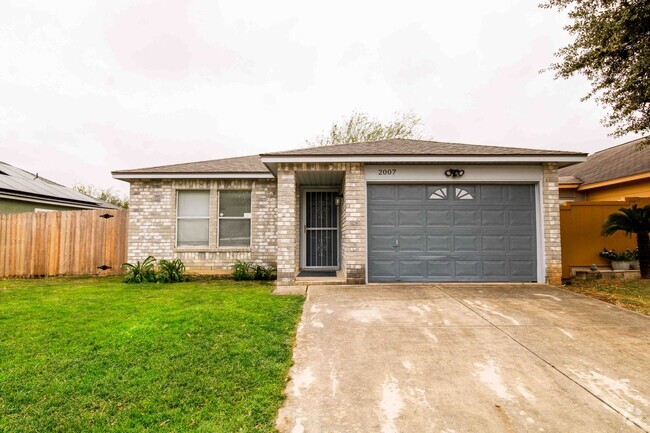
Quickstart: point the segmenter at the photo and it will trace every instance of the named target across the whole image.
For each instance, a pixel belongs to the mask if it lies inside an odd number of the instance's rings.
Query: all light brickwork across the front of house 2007
[[[298,171],[338,171],[344,180],[340,210],[339,276],[348,283],[366,278],[366,183],[361,163],[279,164],[277,181],[256,180],[132,180],[129,218],[129,261],[148,255],[181,258],[188,269],[230,268],[237,259],[278,266],[279,284],[293,284],[300,269],[300,194]],[[543,167],[541,186],[546,282],[560,284],[562,276],[557,164]],[[335,186],[337,187],[337,186]],[[176,192],[210,191],[210,244],[176,247]],[[250,248],[217,247],[218,198],[221,190],[252,191]]]

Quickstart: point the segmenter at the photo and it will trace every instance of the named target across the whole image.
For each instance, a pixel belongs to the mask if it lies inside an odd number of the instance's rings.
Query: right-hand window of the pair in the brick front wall
[[[251,244],[251,192],[219,192],[219,246]]]

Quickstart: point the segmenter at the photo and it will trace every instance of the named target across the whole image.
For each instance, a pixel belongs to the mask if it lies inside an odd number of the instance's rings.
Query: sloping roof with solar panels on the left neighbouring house
[[[0,161],[0,193],[16,197],[47,198],[55,201],[97,207],[112,207],[72,188],[29,173]]]

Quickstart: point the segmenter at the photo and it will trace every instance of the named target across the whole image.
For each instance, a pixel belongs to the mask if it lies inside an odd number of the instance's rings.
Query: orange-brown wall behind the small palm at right
[[[650,198],[627,198],[625,201],[570,202],[560,207],[560,234],[562,236],[562,278],[571,276],[571,267],[609,266],[609,260],[598,255],[603,248],[625,251],[636,248],[636,236],[618,232],[602,236],[607,217],[622,207],[650,204]]]

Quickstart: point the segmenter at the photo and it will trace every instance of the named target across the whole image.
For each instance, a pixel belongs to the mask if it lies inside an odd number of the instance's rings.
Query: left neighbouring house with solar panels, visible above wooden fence
[[[116,209],[110,203],[0,161],[0,214],[99,208]]]

